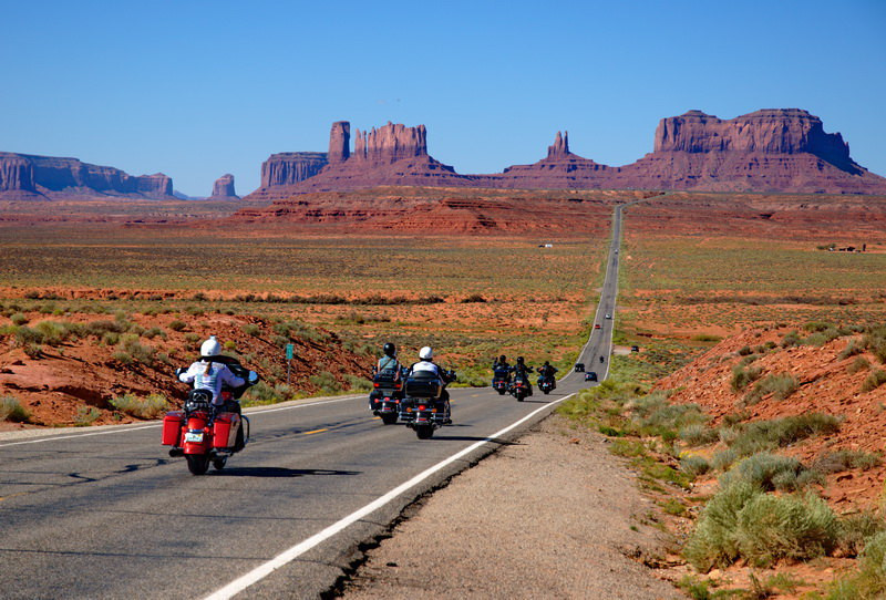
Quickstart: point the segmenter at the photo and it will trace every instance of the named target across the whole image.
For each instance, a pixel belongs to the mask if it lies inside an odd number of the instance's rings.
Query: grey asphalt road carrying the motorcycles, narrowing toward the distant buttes
[[[600,380],[620,234],[619,206],[601,329],[578,359]],[[570,372],[552,394],[536,389],[522,403],[453,389],[454,424],[427,441],[383,425],[365,395],[246,410],[251,442],[202,477],[169,458],[159,423],[0,435],[0,597],[317,597],[405,506],[588,385]]]

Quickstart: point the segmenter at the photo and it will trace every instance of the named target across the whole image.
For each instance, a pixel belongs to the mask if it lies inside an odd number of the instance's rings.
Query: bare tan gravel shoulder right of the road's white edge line
[[[664,555],[652,511],[602,436],[552,416],[421,500],[341,593],[684,598],[642,565]]]

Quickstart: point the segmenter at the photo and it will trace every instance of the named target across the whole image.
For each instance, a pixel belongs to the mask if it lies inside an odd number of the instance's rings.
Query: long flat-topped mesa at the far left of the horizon
[[[0,153],[0,192],[47,198],[133,196],[164,199],[173,180],[162,173],[134,177],[76,158]]]

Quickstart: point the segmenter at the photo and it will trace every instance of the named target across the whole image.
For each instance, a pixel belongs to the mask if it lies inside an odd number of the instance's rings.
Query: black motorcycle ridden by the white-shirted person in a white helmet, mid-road
[[[455,371],[442,370],[441,375],[437,377],[430,371],[420,371],[406,377],[400,420],[415,432],[419,439],[429,439],[435,430],[452,424],[450,403],[440,399],[446,384],[455,381],[457,375]]]

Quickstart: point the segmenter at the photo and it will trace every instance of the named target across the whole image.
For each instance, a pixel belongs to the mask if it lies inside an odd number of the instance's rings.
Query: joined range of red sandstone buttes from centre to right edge
[[[430,156],[424,125],[356,130],[353,152],[350,132],[349,122],[333,123],[327,154],[272,155],[261,167],[261,187],[247,199],[380,185],[886,194],[886,178],[856,164],[838,133],[825,133],[817,116],[800,108],[662,118],[653,152],[620,167],[573,154],[568,133],[557,132],[545,158],[487,175],[462,175]]]

